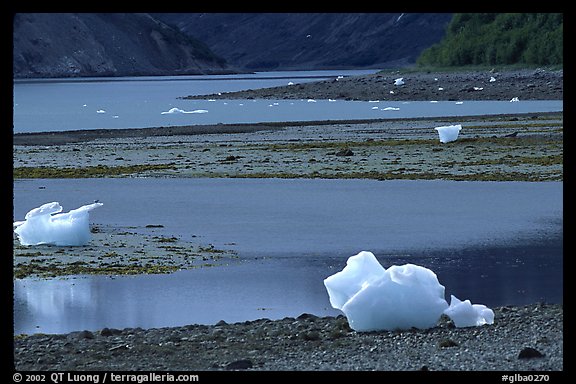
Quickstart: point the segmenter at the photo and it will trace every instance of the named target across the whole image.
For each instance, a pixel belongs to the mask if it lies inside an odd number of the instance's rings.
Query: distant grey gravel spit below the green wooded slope
[[[395,85],[396,79],[403,85]],[[547,69],[386,71],[304,84],[185,99],[337,99],[359,101],[562,100],[564,71]]]

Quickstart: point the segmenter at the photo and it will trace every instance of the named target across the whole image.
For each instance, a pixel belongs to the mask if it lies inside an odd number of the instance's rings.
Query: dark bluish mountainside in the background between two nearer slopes
[[[414,64],[451,20],[440,13],[154,14],[244,70],[395,68]]]

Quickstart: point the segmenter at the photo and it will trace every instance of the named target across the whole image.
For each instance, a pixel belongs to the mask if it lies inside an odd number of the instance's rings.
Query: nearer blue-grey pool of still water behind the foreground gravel
[[[96,224],[160,223],[234,242],[241,256],[171,275],[15,280],[15,333],[334,315],[323,279],[361,250],[385,267],[432,269],[447,299],[563,300],[558,182],[80,179],[14,189],[15,218],[38,203],[100,199]]]

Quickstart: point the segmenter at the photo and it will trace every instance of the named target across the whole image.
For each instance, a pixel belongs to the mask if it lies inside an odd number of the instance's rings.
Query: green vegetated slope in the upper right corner
[[[562,13],[456,13],[419,66],[562,65]]]

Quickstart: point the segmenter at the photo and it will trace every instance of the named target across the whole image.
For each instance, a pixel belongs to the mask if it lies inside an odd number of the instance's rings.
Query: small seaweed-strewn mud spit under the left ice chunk
[[[67,275],[136,275],[225,266],[237,259],[231,250],[185,241],[159,232],[164,226],[112,227],[92,225],[88,245],[20,245],[14,236],[14,278]]]

